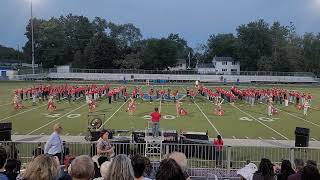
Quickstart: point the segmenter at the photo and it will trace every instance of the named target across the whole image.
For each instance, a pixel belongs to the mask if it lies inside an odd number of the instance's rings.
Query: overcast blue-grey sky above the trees
[[[30,0],[0,0],[0,44],[26,42]],[[34,16],[48,19],[69,13],[115,23],[133,23],[144,38],[179,33],[189,45],[210,34],[235,33],[237,26],[265,19],[293,22],[297,32],[320,32],[320,0],[33,0]]]

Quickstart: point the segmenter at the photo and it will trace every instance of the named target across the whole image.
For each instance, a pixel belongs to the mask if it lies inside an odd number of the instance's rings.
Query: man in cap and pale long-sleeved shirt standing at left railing
[[[45,147],[44,147],[44,153],[49,154],[52,156],[57,156],[59,158],[59,161],[61,162],[62,159],[62,141],[60,138],[60,134],[62,132],[62,127],[60,124],[55,124],[53,126],[53,133],[50,135]]]

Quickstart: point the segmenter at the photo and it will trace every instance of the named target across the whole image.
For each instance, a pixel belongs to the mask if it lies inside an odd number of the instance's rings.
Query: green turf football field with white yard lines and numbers
[[[46,82],[46,84],[48,83]],[[48,113],[47,103],[38,103],[36,106],[32,106],[31,101],[23,102],[24,109],[14,110],[11,105],[13,89],[31,87],[32,85],[33,83],[30,82],[0,82],[0,122],[12,122],[12,134],[50,134],[52,125],[56,122],[62,124],[64,135],[86,134],[89,113],[84,99],[70,104],[67,101],[57,102],[57,111],[53,113]],[[128,86],[133,87],[133,85]],[[156,88],[167,89],[168,86],[160,85]],[[207,86],[210,86],[210,84]],[[176,117],[173,102],[153,101],[150,103],[142,100],[137,100],[137,111],[134,116],[129,116],[125,112],[127,104],[122,99],[110,105],[106,98],[97,102],[97,112],[95,114],[105,114],[104,125],[108,129],[144,130],[148,124],[148,120],[144,116],[149,115],[154,107],[161,106],[161,114],[166,118],[162,118],[161,128],[166,130],[208,131],[210,137],[221,134],[224,138],[234,139],[293,140],[294,129],[299,126],[310,128],[311,140],[320,141],[320,110],[318,109],[320,87],[274,86],[312,93],[314,99],[307,118],[303,116],[302,111],[297,111],[293,105],[289,107],[277,105],[279,115],[270,119],[267,118],[264,104],[250,106],[243,102],[237,102],[235,105],[224,104],[225,116],[218,117],[213,114],[212,103],[199,95],[194,103],[186,98],[182,100],[182,107],[188,112],[188,115],[184,117]],[[130,87],[129,91],[131,91]],[[178,89],[182,93],[185,92],[188,85],[170,84],[170,87],[171,89]],[[230,86],[223,85],[219,87],[230,88]],[[149,87],[141,85],[141,89],[147,92]]]

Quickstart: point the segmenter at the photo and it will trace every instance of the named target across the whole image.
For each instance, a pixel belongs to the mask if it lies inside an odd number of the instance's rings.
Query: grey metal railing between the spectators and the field
[[[23,163],[33,158],[33,150],[38,147],[38,143],[34,142],[2,142],[0,144],[6,147],[10,158],[20,159]],[[146,146],[144,143],[128,142],[117,142],[113,145],[116,154],[129,156],[144,155]],[[40,147],[43,148],[44,143],[41,143]],[[70,154],[75,156],[96,155],[96,145],[92,142],[67,143],[65,147],[69,149]],[[163,158],[173,151],[185,153],[191,176],[206,176],[208,173],[224,173],[227,176],[234,176],[236,169],[244,167],[248,161],[258,165],[261,158],[269,158],[275,164],[280,164],[283,159],[293,162],[295,158],[320,162],[320,148],[225,146],[221,151],[217,151],[212,144],[163,144]],[[150,160],[152,161],[153,158]]]

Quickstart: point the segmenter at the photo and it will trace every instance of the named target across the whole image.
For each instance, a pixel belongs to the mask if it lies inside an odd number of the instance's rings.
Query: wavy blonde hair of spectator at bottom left
[[[51,180],[58,176],[58,166],[53,157],[39,155],[28,164],[23,177],[28,180]]]

